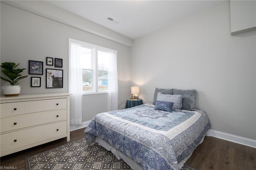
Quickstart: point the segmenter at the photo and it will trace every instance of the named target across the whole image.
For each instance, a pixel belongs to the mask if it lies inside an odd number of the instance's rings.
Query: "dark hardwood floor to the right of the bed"
[[[186,165],[197,170],[256,170],[256,148],[206,136]]]

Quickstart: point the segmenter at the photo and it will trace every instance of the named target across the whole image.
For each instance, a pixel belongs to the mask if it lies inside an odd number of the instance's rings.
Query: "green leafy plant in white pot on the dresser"
[[[20,73],[24,69],[16,69],[16,67],[19,65],[18,63],[11,63],[11,62],[4,62],[2,63],[1,67],[4,69],[2,72],[4,75],[6,75],[9,79],[6,79],[2,76],[0,78],[4,81],[7,81],[10,83],[9,86],[3,86],[3,93],[5,96],[18,96],[20,94],[20,86],[15,85],[19,80],[24,79],[28,77],[27,75],[22,76]],[[22,76],[22,77],[21,77]]]

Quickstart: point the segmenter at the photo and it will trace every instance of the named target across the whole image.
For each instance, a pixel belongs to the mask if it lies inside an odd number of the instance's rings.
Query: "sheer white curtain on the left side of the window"
[[[70,40],[68,92],[70,96],[70,125],[82,125],[82,65],[81,44]]]

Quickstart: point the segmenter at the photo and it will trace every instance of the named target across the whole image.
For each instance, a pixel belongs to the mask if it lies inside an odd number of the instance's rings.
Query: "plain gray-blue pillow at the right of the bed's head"
[[[183,96],[181,108],[182,110],[192,111],[196,107],[196,90],[173,89],[173,94]]]

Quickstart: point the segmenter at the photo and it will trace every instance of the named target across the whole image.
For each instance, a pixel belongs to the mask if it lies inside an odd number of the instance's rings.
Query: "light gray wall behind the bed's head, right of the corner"
[[[196,89],[212,129],[256,139],[256,32],[230,35],[229,2],[134,40],[132,85]]]

